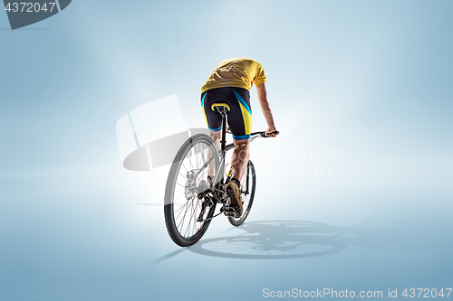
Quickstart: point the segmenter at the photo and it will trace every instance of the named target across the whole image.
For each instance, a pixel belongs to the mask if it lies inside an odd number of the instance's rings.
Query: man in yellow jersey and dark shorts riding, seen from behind
[[[267,122],[265,134],[275,137],[275,134],[272,134],[276,131],[274,118],[265,89],[265,71],[260,63],[247,58],[221,61],[201,88],[201,108],[217,149],[220,149],[222,116],[212,105],[223,103],[228,108],[226,113],[228,127],[233,134],[236,148],[231,156],[233,174],[232,180],[226,184],[226,193],[229,197],[227,205],[235,209],[236,217],[242,215],[240,179],[246,172],[250,156],[249,138],[252,132],[250,89],[254,82],[258,101]]]

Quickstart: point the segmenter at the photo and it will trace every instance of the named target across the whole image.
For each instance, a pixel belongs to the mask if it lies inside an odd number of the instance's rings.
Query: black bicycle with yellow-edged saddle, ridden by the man
[[[222,137],[217,151],[212,139],[204,134],[191,136],[180,147],[171,165],[165,188],[165,225],[169,237],[178,246],[195,244],[207,231],[212,219],[224,213],[233,226],[239,226],[248,217],[255,197],[255,165],[248,161],[246,173],[241,179],[241,199],[243,212],[235,217],[232,208],[227,207],[226,183],[231,180],[232,169],[224,173],[226,152],[235,148],[233,143],[226,145],[226,113],[228,108],[213,105],[222,115]],[[229,133],[229,130],[228,130]],[[279,132],[273,133],[278,135]],[[257,137],[268,137],[265,132],[255,132],[250,142]],[[226,166],[225,166],[226,167]],[[207,175],[211,174],[209,181]],[[222,172],[220,172],[222,171]],[[225,177],[226,176],[226,177]],[[217,203],[222,204],[220,212],[214,214]]]

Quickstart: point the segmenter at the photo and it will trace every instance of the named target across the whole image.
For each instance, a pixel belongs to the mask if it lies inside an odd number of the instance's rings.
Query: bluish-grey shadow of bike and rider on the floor
[[[371,227],[371,223],[379,226]],[[415,227],[415,228],[414,228]],[[231,259],[298,259],[327,256],[357,246],[388,251],[410,251],[418,241],[417,225],[403,221],[365,218],[354,227],[331,226],[313,221],[252,221],[235,228],[236,236],[199,240],[188,251]],[[159,263],[178,250],[156,259]]]

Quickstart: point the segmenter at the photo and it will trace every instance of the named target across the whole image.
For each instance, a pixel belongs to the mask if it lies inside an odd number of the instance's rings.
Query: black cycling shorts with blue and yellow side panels
[[[252,133],[252,109],[250,92],[247,89],[223,87],[208,89],[201,94],[201,109],[207,127],[214,132],[222,129],[222,115],[214,109],[216,105],[226,104],[228,127],[235,140],[246,140]]]

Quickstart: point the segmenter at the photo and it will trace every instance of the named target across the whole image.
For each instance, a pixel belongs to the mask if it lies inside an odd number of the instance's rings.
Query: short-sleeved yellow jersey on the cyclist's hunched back
[[[237,87],[250,90],[265,82],[265,71],[259,62],[247,58],[235,58],[221,61],[201,87],[201,93],[208,89]]]

